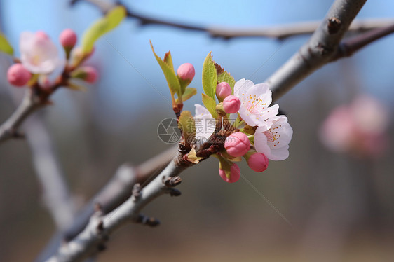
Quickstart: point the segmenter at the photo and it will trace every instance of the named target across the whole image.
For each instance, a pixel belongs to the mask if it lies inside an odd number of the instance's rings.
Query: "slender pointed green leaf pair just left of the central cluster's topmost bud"
[[[170,88],[172,97],[174,94],[177,94],[178,96],[182,96],[181,85],[179,84],[178,77],[175,74],[174,67],[172,66],[170,51],[168,51],[168,53],[165,54],[163,61],[158,55],[156,55],[152,42],[150,43],[151,43],[152,52],[154,53],[156,60],[160,65],[161,70],[163,71],[165,79],[167,80],[168,87]]]

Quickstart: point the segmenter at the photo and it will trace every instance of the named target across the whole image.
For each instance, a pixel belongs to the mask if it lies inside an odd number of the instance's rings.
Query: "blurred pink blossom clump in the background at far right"
[[[388,109],[369,95],[335,108],[320,128],[320,141],[332,151],[376,158],[388,145]]]

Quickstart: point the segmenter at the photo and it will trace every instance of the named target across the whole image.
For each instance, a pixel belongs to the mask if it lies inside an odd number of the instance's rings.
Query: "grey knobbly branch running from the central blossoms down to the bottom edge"
[[[74,240],[64,244],[57,254],[49,258],[48,261],[81,261],[83,258],[88,258],[95,252],[102,250],[107,236],[125,223],[144,222],[150,226],[156,226],[158,224],[156,219],[147,219],[140,214],[142,208],[164,193],[179,195],[179,191],[174,193],[172,186],[180,183],[180,178],[177,175],[190,165],[184,163],[179,154],[154,180],[142,188],[138,194],[128,198],[113,212],[102,215],[99,208],[91,217],[88,226]]]

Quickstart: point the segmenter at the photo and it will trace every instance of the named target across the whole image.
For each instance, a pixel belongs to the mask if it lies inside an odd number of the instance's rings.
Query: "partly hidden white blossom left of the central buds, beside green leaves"
[[[207,142],[208,138],[215,132],[216,120],[210,114],[210,111],[201,104],[195,104],[196,115],[194,122],[196,125],[196,139],[197,142],[202,144]]]

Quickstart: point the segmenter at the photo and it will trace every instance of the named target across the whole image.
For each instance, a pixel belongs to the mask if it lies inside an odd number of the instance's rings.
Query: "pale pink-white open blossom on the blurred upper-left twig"
[[[44,32],[20,34],[20,60],[34,74],[50,74],[62,65],[55,44]]]

